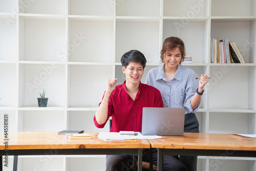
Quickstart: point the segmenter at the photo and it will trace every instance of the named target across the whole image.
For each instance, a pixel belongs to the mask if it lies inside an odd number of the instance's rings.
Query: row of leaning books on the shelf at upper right
[[[236,42],[211,38],[211,63],[245,63]]]

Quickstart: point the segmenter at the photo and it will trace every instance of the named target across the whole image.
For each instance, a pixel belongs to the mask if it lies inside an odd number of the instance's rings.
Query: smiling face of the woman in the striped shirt
[[[169,68],[177,68],[179,63],[181,62],[181,51],[179,48],[174,49],[173,51],[166,51],[163,54],[164,63],[166,67]]]

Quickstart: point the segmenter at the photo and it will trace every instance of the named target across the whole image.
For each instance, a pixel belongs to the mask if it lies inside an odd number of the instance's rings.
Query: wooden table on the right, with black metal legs
[[[256,157],[256,138],[233,134],[184,133],[148,139],[158,148],[158,170],[162,170],[163,155]]]

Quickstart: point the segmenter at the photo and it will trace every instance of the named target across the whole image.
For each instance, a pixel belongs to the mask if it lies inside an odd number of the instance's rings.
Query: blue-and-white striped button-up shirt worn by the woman
[[[185,108],[185,114],[194,113],[191,107],[191,98],[195,95],[199,81],[197,74],[186,67],[178,65],[177,71],[172,79],[167,81],[164,75],[163,65],[151,69],[146,75],[145,83],[157,88],[162,96],[164,108]]]

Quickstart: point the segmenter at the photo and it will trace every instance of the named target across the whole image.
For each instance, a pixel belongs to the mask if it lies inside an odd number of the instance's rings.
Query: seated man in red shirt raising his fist
[[[116,79],[108,79],[106,91],[94,116],[94,124],[102,128],[112,116],[111,132],[141,132],[143,107],[161,107],[163,101],[160,91],[140,82],[146,58],[137,51],[131,50],[121,57],[122,71],[126,80],[116,86]],[[142,161],[149,161],[149,150],[143,150]],[[133,156],[107,155],[106,170],[129,170]],[[157,165],[157,150],[153,149],[153,164]],[[187,170],[173,156],[164,156],[163,170]]]

